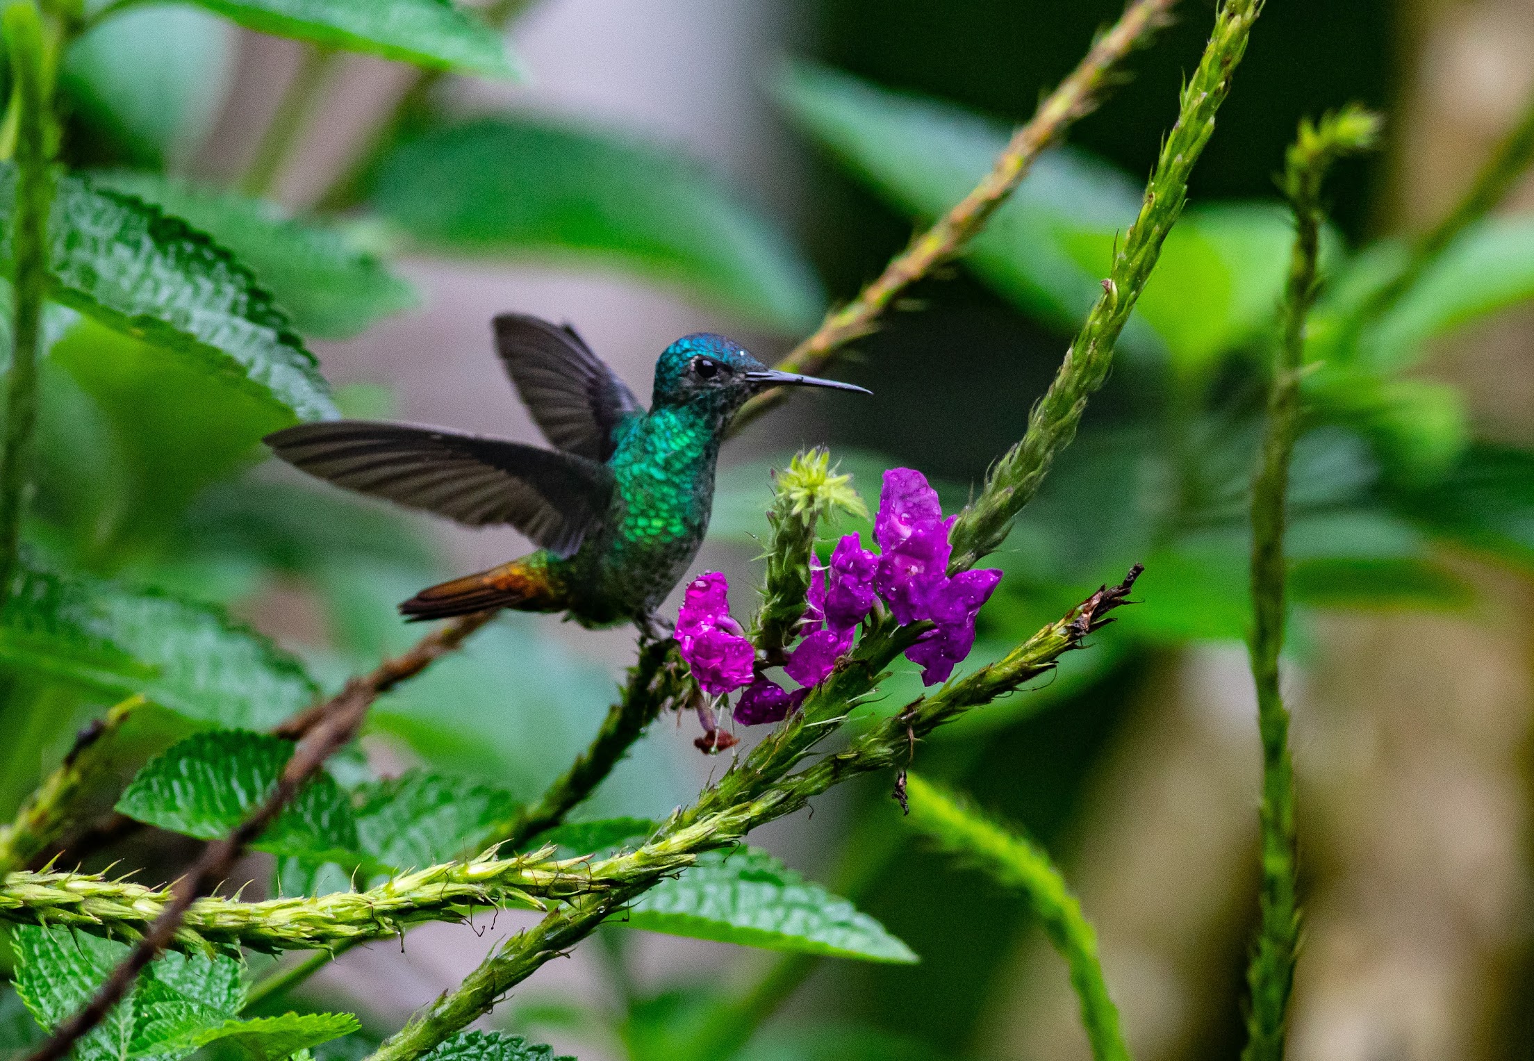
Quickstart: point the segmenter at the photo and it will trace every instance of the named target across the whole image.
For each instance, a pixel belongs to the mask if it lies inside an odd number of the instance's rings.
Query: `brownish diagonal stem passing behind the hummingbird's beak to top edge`
[[[778,362],[778,366],[788,373],[819,374],[838,350],[874,330],[879,316],[900,291],[931,273],[936,265],[962,255],[997,207],[1028,176],[1039,155],[1058,143],[1075,121],[1098,107],[1114,84],[1118,66],[1137,48],[1150,43],[1155,31],[1169,21],[1175,5],[1177,0],[1131,3],[1060,86],[1043,98],[1028,124],[1012,133],[980,182],[896,255],[858,297],[828,311],[821,327]],[[730,434],[787,400],[787,396],[785,388],[775,388],[753,397],[736,414]]]

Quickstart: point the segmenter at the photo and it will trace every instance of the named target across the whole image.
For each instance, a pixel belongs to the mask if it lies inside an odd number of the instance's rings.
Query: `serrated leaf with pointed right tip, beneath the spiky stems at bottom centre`
[[[709,852],[617,918],[630,928],[867,961],[917,961],[850,902],[804,880],[765,851]]]

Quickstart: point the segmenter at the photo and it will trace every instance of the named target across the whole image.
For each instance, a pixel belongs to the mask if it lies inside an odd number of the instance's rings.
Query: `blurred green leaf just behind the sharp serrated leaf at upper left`
[[[420,301],[405,279],[336,225],[158,173],[112,172],[91,179],[153,202],[229,247],[307,336],[348,339]]]

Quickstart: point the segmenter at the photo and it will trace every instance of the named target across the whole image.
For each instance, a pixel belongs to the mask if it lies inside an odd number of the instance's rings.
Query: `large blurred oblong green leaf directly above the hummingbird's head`
[[[437,129],[385,159],[373,205],[428,250],[618,265],[779,328],[822,307],[808,267],[719,178],[615,133],[509,115]]]

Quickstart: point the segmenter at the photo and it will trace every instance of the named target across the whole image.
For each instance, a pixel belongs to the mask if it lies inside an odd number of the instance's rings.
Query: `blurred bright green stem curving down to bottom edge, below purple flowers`
[[[910,774],[907,794],[911,813],[905,820],[913,829],[943,849],[976,862],[1028,900],[1045,935],[1071,967],[1071,986],[1081,1001],[1081,1024],[1095,1061],[1129,1061],[1129,1047],[1118,1027],[1118,1007],[1108,994],[1108,980],[1097,957],[1097,932],[1081,914],[1081,903],[1071,894],[1049,852],[963,806],[923,777]]]

